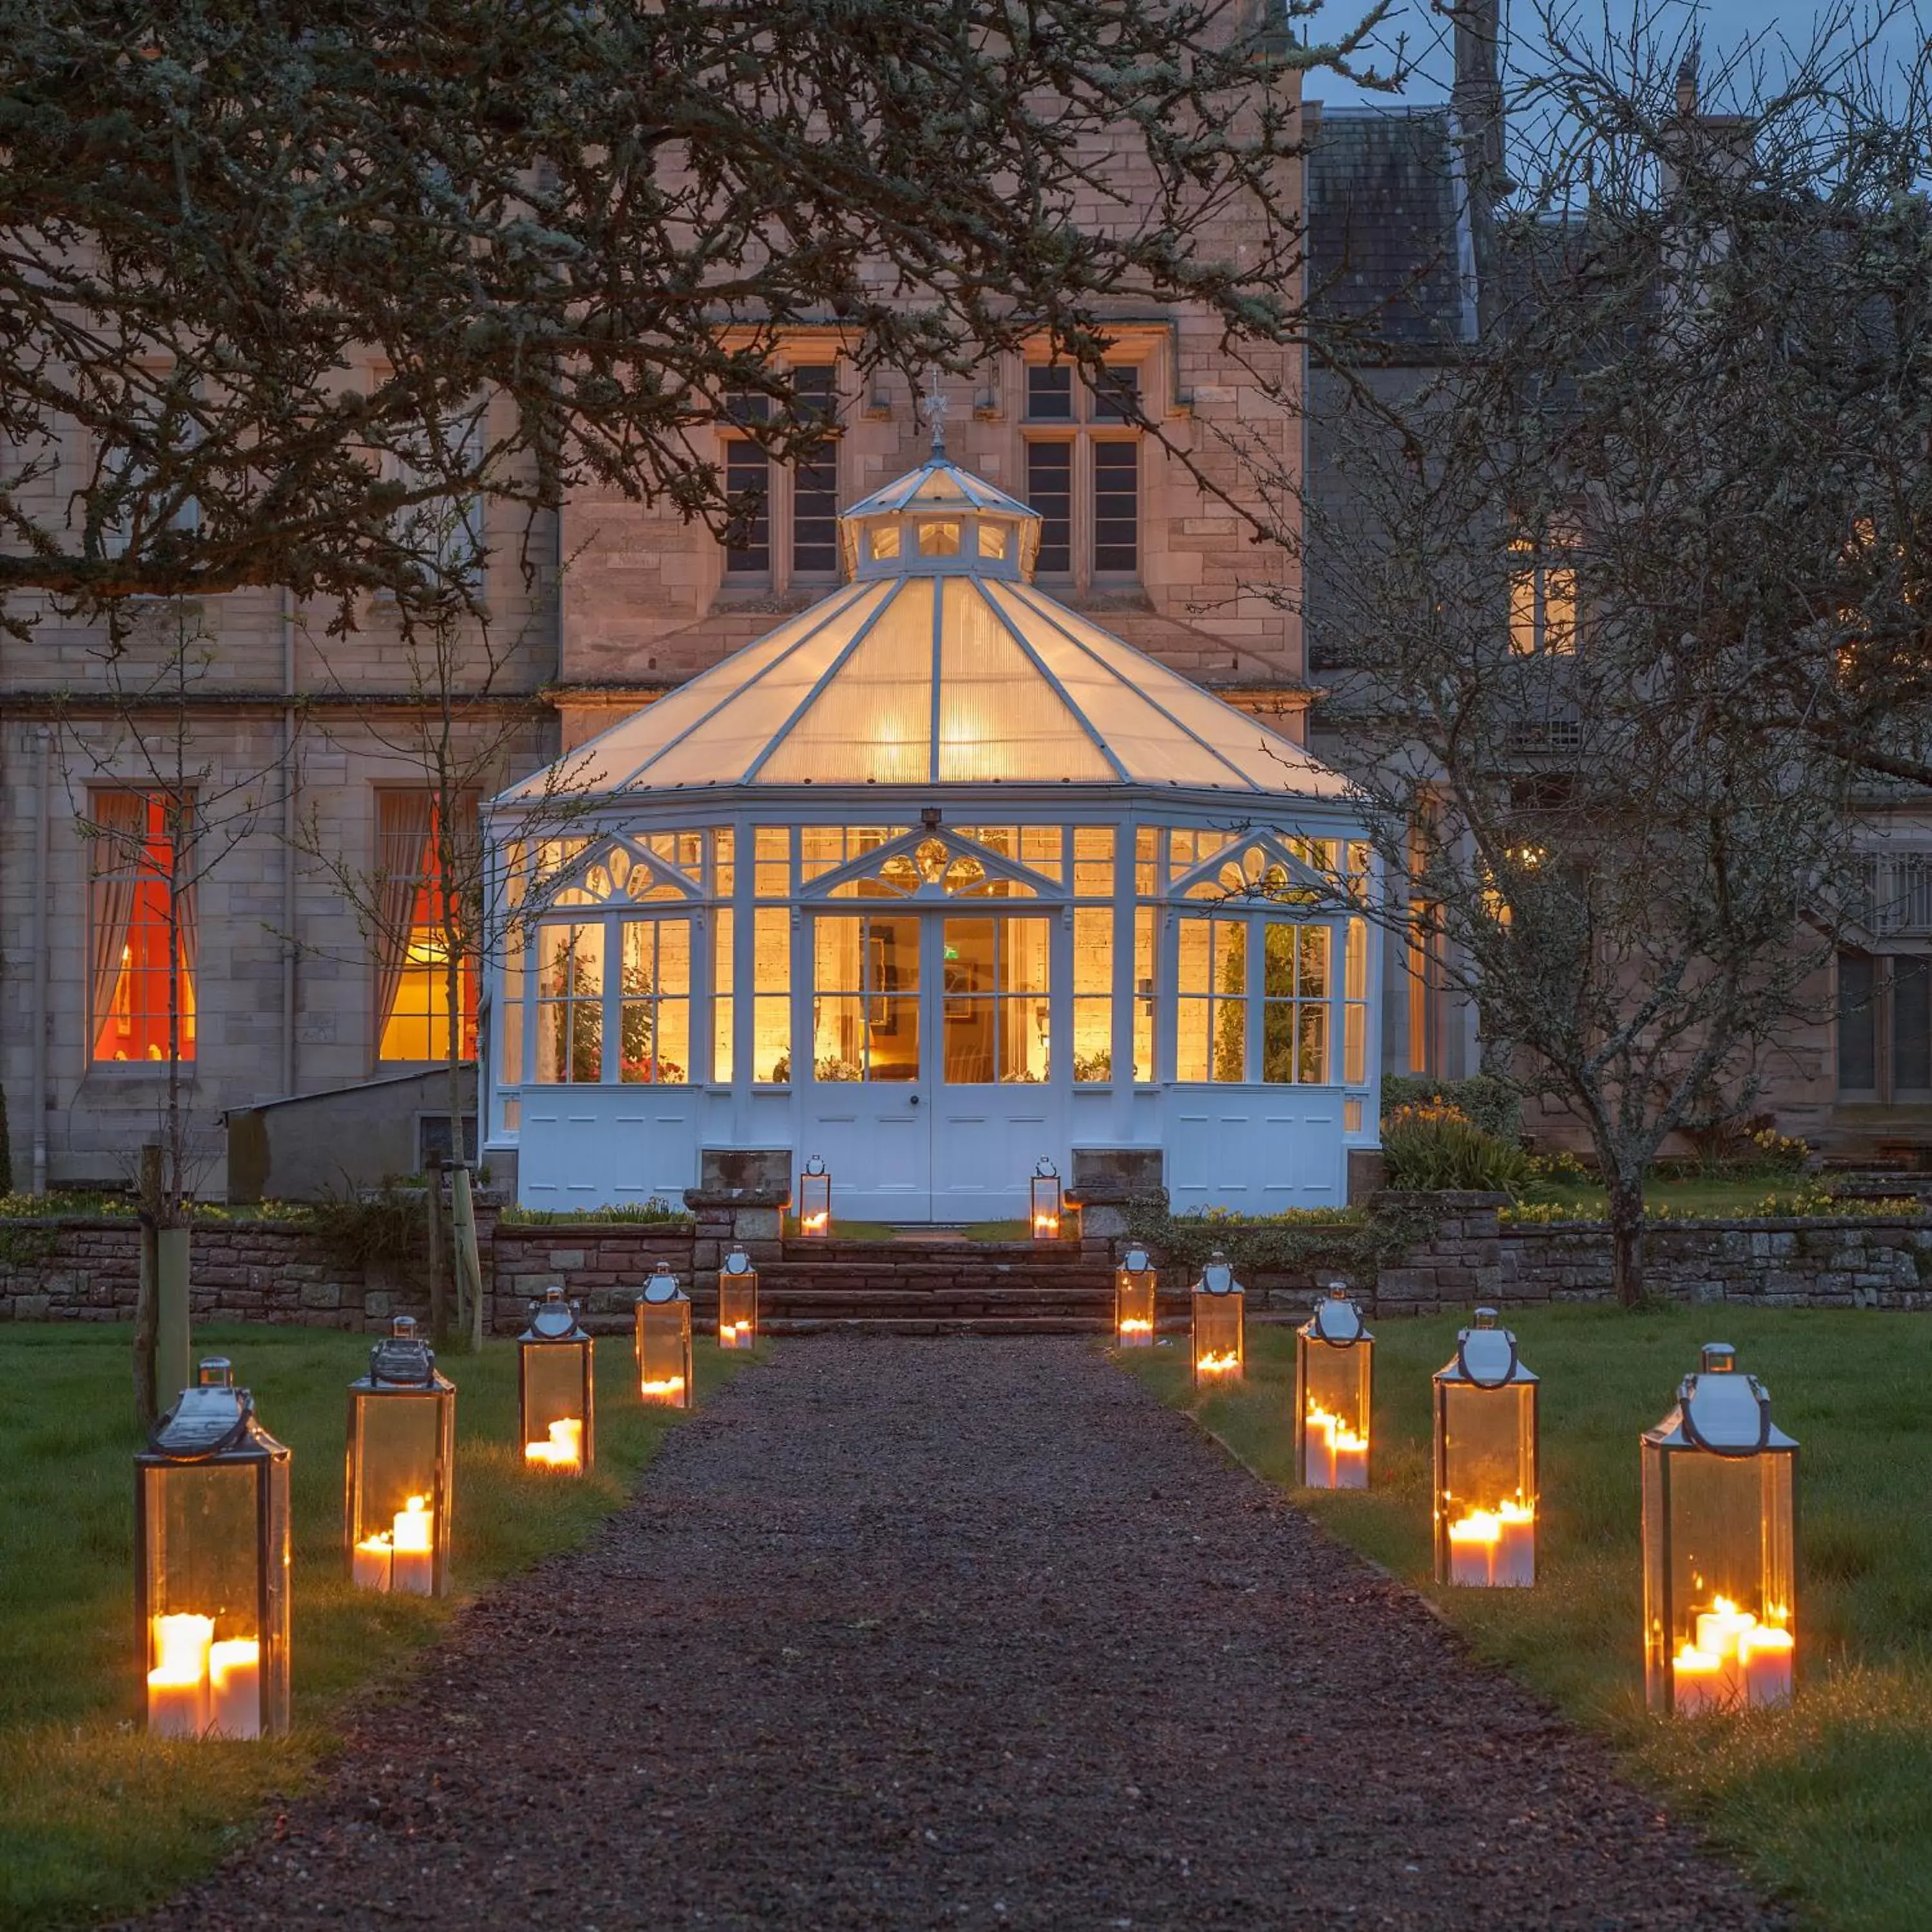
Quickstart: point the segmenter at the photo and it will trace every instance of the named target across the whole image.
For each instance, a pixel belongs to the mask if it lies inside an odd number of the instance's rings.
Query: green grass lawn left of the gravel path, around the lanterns
[[[408,1669],[462,1596],[589,1536],[676,1422],[647,1412],[628,1339],[597,1349],[597,1466],[527,1474],[516,1347],[444,1356],[458,1385],[452,1577],[458,1596],[371,1596],[342,1580],[346,1385],[367,1335],[197,1331],[228,1354],[267,1430],[294,1451],[294,1729],[274,1743],[156,1743],[141,1729],[133,1631],[133,1451],[120,1325],[0,1329],[0,1926],[118,1917],[207,1870],[330,1748],[350,1692]],[[738,1364],[699,1345],[703,1401]]]

